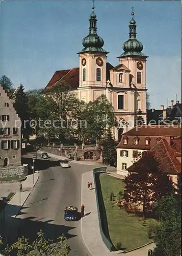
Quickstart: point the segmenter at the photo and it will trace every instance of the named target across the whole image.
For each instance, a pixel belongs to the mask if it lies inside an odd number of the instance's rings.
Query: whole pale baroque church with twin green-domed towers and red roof
[[[89,34],[82,40],[83,49],[79,54],[79,68],[56,71],[46,89],[64,80],[70,84],[79,100],[94,101],[106,95],[114,108],[118,127],[113,127],[116,141],[121,134],[132,129],[137,111],[142,111],[146,123],[146,59],[143,45],[136,38],[134,12],[129,22],[129,39],[124,42],[123,53],[117,57],[116,67],[107,62],[104,41],[97,35],[97,19],[92,6]]]

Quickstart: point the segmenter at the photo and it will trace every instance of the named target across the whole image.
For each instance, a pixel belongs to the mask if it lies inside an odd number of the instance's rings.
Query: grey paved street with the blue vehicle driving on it
[[[42,229],[50,239],[64,233],[71,247],[70,256],[90,256],[82,239],[81,222],[66,222],[64,208],[66,205],[81,206],[82,174],[93,166],[71,163],[70,168],[63,169],[53,158],[39,158],[37,162],[37,169],[42,168],[39,180],[14,221],[9,244],[16,240],[15,230],[18,236],[22,234],[33,240],[36,232]]]

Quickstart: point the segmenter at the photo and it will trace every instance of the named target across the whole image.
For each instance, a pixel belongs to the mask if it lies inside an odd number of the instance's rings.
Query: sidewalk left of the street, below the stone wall
[[[19,182],[1,184],[1,197],[7,197],[10,192],[16,193],[5,207],[5,219],[3,220],[3,223],[1,225],[1,235],[4,237],[5,244],[7,243],[8,233],[13,218],[16,218],[16,216],[18,215],[19,210],[24,205],[25,201],[31,194],[32,189],[36,185],[38,178],[39,172],[35,172],[33,184],[33,174],[27,176],[27,179],[25,181],[22,181],[23,191],[21,193],[19,193]],[[2,215],[3,212],[1,214],[1,217]]]

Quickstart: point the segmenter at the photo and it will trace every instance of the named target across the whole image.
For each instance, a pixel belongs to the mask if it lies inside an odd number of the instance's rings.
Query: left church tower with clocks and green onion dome
[[[97,19],[92,6],[89,34],[82,40],[84,48],[78,53],[80,59],[79,99],[94,101],[106,88],[107,52],[103,39],[97,35]]]

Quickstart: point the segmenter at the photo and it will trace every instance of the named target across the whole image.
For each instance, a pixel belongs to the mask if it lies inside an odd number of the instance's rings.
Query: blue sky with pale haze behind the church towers
[[[92,1],[1,1],[0,76],[25,90],[44,88],[56,70],[78,67]],[[137,39],[147,59],[151,107],[181,101],[180,1],[95,1],[97,32],[118,65],[135,9]]]

